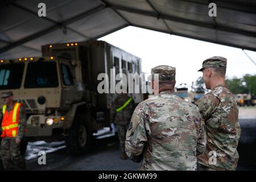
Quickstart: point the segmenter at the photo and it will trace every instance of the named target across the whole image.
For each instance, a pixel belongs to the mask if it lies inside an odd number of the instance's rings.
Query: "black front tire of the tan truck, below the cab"
[[[82,155],[89,149],[90,133],[82,117],[76,117],[69,129],[68,137],[65,139],[69,155]]]

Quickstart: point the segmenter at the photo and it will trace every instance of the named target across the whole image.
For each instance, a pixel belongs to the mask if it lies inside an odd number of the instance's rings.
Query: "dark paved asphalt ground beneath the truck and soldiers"
[[[238,146],[240,160],[237,170],[256,169],[256,118],[240,119],[242,134]],[[68,156],[64,142],[30,143],[26,159],[30,170],[137,170],[140,166],[131,160],[119,159],[118,138],[116,136],[94,139],[90,151],[83,156]],[[46,165],[38,164],[38,151],[47,151]]]

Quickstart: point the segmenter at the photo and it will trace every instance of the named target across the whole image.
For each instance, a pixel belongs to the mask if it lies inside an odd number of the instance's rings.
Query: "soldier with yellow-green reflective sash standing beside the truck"
[[[125,134],[134,110],[134,101],[126,93],[117,94],[113,102],[114,123],[117,126],[121,159],[127,159],[125,154]]]

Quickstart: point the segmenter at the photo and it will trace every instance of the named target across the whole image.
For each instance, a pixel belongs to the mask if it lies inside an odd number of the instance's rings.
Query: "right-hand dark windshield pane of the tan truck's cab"
[[[24,88],[48,88],[58,85],[55,62],[28,63]]]

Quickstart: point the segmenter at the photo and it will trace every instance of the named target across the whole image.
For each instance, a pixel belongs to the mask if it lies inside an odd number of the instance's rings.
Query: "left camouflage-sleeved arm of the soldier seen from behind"
[[[141,161],[146,142],[145,113],[142,105],[138,105],[131,117],[125,140],[125,152],[131,160]]]

